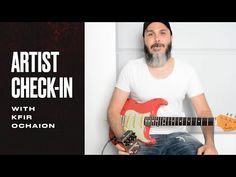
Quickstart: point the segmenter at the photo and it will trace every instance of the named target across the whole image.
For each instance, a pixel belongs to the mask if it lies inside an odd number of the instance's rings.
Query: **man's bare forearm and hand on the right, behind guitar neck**
[[[198,117],[213,117],[204,94],[191,98]],[[205,145],[198,149],[198,154],[217,154],[214,143],[214,126],[202,126]]]

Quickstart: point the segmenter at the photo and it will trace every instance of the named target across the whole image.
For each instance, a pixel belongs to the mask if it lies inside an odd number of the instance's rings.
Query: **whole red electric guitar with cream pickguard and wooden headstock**
[[[137,139],[145,144],[155,144],[156,140],[149,135],[151,126],[218,126],[224,131],[236,130],[236,119],[228,115],[217,117],[156,117],[160,106],[167,105],[162,98],[137,103],[128,99],[121,110],[121,121],[125,131],[132,130]],[[110,139],[114,137],[109,130]],[[113,144],[117,142],[112,141]]]

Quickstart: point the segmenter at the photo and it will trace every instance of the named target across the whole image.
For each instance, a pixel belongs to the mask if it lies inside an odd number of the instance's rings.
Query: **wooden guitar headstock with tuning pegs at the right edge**
[[[224,131],[236,130],[236,118],[232,114],[220,114],[216,117],[217,126],[221,127]]]

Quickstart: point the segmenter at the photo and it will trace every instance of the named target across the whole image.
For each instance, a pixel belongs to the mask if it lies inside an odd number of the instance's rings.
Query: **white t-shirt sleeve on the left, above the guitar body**
[[[130,92],[130,77],[131,66],[130,63],[128,63],[122,68],[116,82],[116,87],[123,91]]]

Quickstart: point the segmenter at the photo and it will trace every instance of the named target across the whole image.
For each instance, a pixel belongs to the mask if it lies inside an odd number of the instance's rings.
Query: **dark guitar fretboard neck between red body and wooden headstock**
[[[214,117],[145,117],[145,126],[214,126]]]

